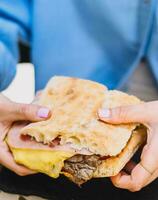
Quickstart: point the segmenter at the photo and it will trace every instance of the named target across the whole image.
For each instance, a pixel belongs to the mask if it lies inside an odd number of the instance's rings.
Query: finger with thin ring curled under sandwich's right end
[[[153,174],[158,167],[158,136],[155,135],[150,143],[145,145],[141,154],[141,161],[133,168],[130,175],[119,173],[111,178],[114,185],[131,191],[139,191],[155,178]]]

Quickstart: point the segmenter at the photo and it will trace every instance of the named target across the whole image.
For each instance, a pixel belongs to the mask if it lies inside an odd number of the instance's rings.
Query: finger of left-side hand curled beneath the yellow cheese
[[[36,172],[29,170],[21,165],[15,163],[12,154],[9,151],[0,150],[0,162],[3,166],[14,171],[16,174],[20,176],[26,176],[29,174],[35,174]]]

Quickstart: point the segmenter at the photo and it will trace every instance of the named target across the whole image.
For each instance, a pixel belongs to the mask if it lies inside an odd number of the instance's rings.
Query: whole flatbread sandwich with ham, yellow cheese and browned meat
[[[99,108],[139,104],[126,93],[83,79],[54,76],[38,104],[52,110],[46,121],[8,133],[15,161],[52,178],[74,183],[118,174],[146,139],[138,123],[112,125],[98,119]]]

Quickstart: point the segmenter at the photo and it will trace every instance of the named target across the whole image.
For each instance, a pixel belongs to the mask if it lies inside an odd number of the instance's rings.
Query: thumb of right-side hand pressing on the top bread
[[[157,110],[158,101],[155,101],[149,103],[140,103],[138,105],[100,109],[98,111],[98,116],[102,121],[113,124],[129,122],[148,123],[154,122],[157,119]]]

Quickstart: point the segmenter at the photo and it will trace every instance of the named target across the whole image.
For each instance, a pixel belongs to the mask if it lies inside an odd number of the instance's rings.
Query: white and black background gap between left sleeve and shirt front
[[[29,63],[29,47],[22,44],[19,46],[20,64],[17,65],[13,82],[3,91],[3,94],[15,102],[30,103],[34,98],[34,67]]]

